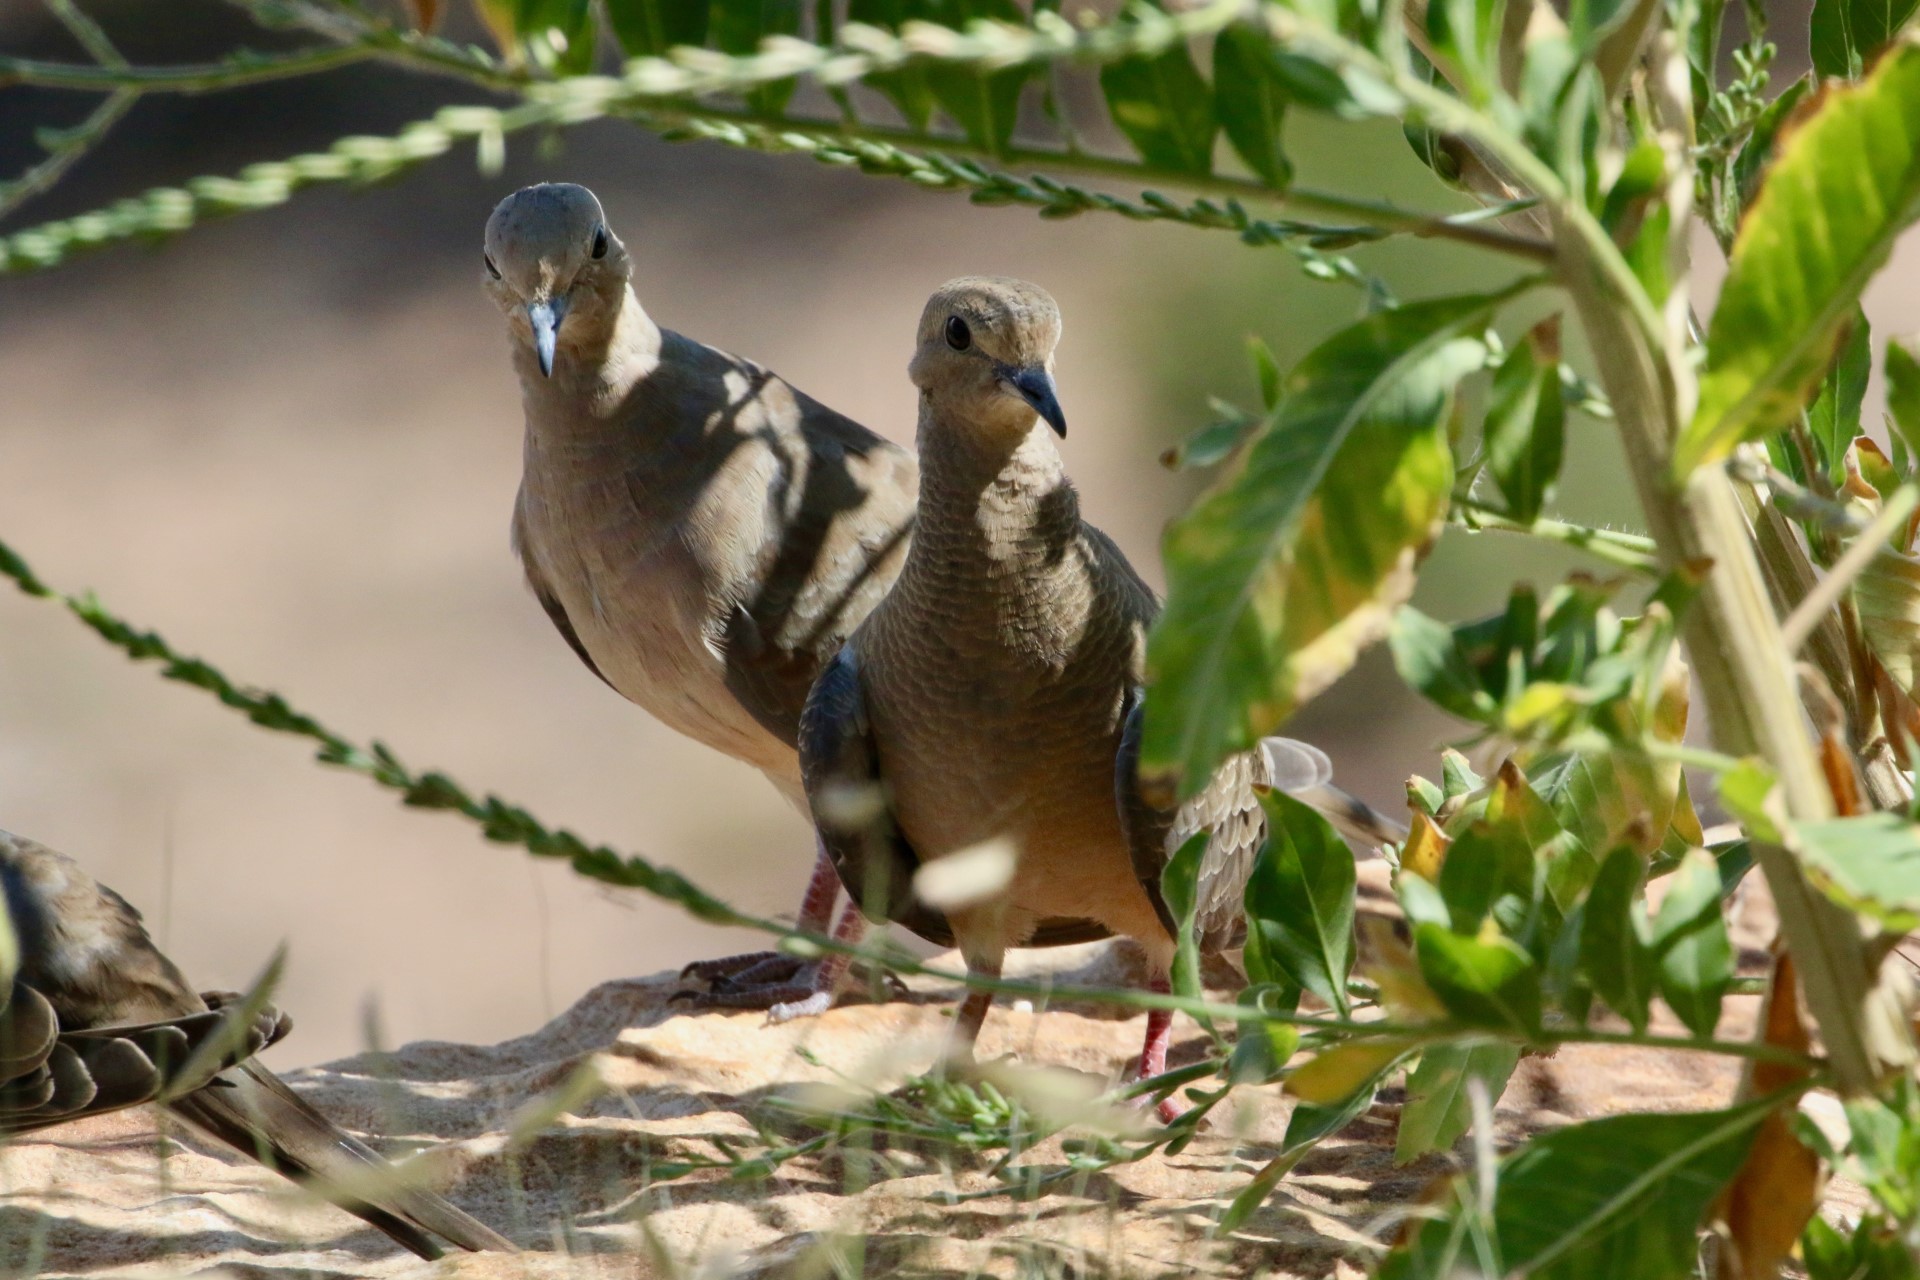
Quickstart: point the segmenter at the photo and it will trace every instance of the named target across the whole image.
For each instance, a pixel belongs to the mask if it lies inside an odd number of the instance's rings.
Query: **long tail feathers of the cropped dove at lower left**
[[[513,1242],[444,1197],[397,1186],[392,1167],[372,1148],[257,1063],[244,1063],[167,1105],[209,1136],[311,1188],[424,1259],[442,1255],[432,1236],[476,1253],[515,1251]]]

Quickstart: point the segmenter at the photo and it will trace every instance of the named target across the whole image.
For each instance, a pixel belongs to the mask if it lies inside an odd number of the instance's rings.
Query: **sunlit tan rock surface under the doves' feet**
[[[1027,977],[1110,984],[1125,981],[1131,956],[1092,944],[1029,952],[1025,961]],[[776,1096],[870,1096],[924,1071],[947,1004],[937,984],[922,983],[908,1002],[766,1027],[758,1013],[693,1011],[672,1000],[678,988],[670,975],[607,983],[541,1031],[499,1046],[411,1044],[290,1073],[340,1123],[384,1134],[390,1151],[457,1140],[438,1157],[444,1173],[459,1174],[451,1196],[528,1249],[520,1257],[420,1263],[198,1136],[156,1138],[156,1117],[131,1111],[0,1150],[0,1272],[23,1259],[29,1276],[140,1278],[1346,1276],[1361,1274],[1375,1242],[1390,1238],[1396,1211],[1453,1167],[1446,1157],[1394,1167],[1402,1092],[1386,1090],[1311,1151],[1242,1230],[1221,1236],[1221,1211],[1277,1153],[1288,1111],[1279,1090],[1242,1088],[1179,1155],[1066,1178],[1027,1197],[993,1194],[1002,1182],[991,1155],[899,1138],[801,1155],[764,1178],[682,1173],[670,1165],[718,1157],[722,1144],[755,1155],[766,1142],[820,1132],[770,1119]],[[1732,1023],[1751,1019],[1753,1004],[1732,1000],[1722,1031],[1738,1034]],[[996,1009],[981,1048],[1096,1082],[1123,1073],[1139,1042],[1139,1017],[1056,1004],[1043,1013]],[[1202,1046],[1200,1029],[1179,1021],[1175,1065]],[[607,1092],[503,1150],[516,1113],[589,1061]],[[1720,1105],[1736,1077],[1730,1061],[1699,1054],[1563,1048],[1521,1063],[1500,1105],[1501,1140],[1626,1107]],[[1062,1169],[1060,1142],[1020,1163]]]

